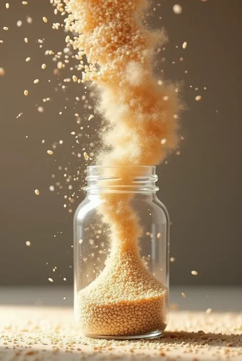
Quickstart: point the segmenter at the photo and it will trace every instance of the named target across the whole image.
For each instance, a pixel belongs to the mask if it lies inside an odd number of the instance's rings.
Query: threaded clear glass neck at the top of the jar
[[[88,193],[155,193],[155,166],[87,166]]]

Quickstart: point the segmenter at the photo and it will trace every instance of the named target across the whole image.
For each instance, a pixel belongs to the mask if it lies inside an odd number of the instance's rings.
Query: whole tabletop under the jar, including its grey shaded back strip
[[[173,288],[166,332],[151,341],[81,336],[72,301],[68,287],[0,287],[0,360],[242,360],[241,288]]]

